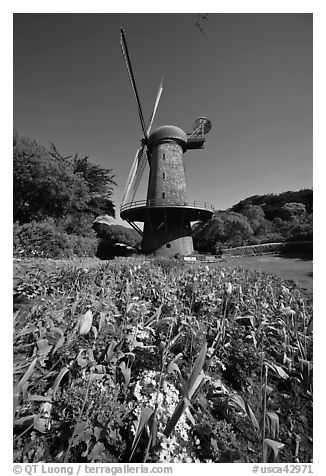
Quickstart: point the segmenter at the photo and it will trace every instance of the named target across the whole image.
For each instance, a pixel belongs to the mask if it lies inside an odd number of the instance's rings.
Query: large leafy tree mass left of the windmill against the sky
[[[64,157],[16,131],[13,152],[14,221],[53,218],[68,233],[87,234],[97,215],[114,215],[111,169]]]

